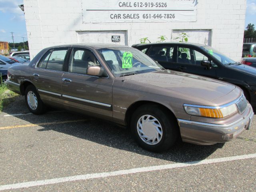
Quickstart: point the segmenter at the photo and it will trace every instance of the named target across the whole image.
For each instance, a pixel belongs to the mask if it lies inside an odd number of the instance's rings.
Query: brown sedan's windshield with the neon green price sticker
[[[157,62],[134,48],[101,48],[98,49],[98,52],[104,58],[114,76],[164,70]]]

